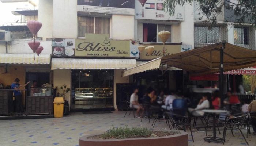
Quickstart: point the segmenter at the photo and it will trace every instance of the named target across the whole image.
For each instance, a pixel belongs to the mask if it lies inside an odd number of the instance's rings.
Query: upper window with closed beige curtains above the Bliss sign
[[[110,18],[78,17],[78,36],[84,37],[86,33],[109,34]]]

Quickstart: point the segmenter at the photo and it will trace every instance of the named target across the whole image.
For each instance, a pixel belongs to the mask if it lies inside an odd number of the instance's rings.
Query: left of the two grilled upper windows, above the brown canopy
[[[219,27],[195,27],[195,43],[219,43]]]

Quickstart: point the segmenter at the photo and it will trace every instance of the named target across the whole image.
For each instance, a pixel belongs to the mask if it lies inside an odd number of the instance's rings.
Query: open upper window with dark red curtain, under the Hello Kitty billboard
[[[143,42],[158,42],[161,43],[161,39],[157,36],[160,31],[169,31],[171,32],[172,26],[170,25],[160,25],[160,24],[143,24]],[[171,42],[171,37],[166,41],[167,43]]]

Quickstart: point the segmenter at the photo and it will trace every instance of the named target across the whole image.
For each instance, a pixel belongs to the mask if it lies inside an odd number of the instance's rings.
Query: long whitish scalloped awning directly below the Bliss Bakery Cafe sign
[[[54,69],[127,69],[136,66],[135,59],[71,59],[53,58]]]

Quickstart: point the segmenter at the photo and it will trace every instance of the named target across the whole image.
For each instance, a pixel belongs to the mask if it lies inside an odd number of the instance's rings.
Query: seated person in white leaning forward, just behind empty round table
[[[188,111],[194,116],[203,116],[204,112],[202,109],[210,108],[210,103],[207,99],[207,96],[202,96],[202,99],[199,101],[197,107],[195,109],[188,108]]]

